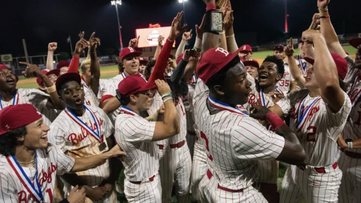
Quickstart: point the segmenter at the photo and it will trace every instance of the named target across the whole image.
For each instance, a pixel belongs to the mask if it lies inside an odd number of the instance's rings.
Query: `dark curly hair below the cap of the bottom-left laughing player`
[[[21,126],[0,135],[0,154],[4,156],[15,155],[15,147],[22,144],[22,142],[18,141],[18,138],[26,134],[26,126]]]

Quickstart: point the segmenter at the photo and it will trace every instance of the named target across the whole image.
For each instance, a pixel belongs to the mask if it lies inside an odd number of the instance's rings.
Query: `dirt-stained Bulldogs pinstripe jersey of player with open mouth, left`
[[[100,151],[99,142],[88,132],[88,130],[80,126],[70,116],[68,110],[64,110],[59,114],[50,127],[48,139],[53,144],[56,144],[64,153],[70,157],[90,157],[99,155],[108,150],[108,143],[106,138],[114,133],[114,127],[110,122],[108,116],[99,107],[87,106],[92,111],[92,114],[86,110],[83,116],[78,117],[86,123],[92,130],[97,130],[97,125],[100,131],[102,140],[105,143],[105,148]],[[86,181],[89,186],[99,186],[101,181],[109,177],[109,161],[101,163],[95,168],[87,171],[77,172],[77,175]]]

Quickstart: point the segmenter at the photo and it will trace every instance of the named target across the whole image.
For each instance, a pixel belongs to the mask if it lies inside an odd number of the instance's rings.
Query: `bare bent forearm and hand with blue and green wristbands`
[[[155,83],[158,87],[159,95],[170,93],[170,87],[165,81],[156,80]],[[156,122],[152,141],[164,140],[177,135],[181,131],[177,108],[175,108],[173,99],[170,98],[171,96],[162,98],[163,102],[166,100],[164,102],[164,121]]]

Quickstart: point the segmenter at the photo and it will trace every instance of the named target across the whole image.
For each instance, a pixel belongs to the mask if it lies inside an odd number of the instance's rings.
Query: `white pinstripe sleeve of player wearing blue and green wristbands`
[[[132,116],[123,120],[120,133],[129,143],[151,142],[153,139],[156,122],[148,122],[140,116]]]

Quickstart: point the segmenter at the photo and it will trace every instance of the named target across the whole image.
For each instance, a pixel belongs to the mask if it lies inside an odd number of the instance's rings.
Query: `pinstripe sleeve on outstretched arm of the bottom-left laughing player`
[[[68,173],[75,164],[75,159],[65,155],[56,145],[52,145],[53,154],[56,157],[56,166],[58,167],[56,175],[61,176]]]

